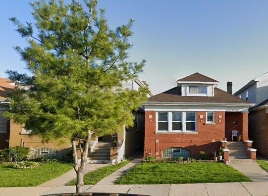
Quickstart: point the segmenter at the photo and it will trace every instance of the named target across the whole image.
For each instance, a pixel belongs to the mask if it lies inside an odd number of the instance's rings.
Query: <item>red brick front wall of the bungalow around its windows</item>
[[[149,118],[152,115],[152,118]],[[203,119],[200,118],[203,115]],[[221,119],[218,116],[221,115]],[[220,122],[219,122],[220,121]],[[156,134],[156,112],[145,112],[145,147],[152,156],[161,156],[162,150],[169,147],[184,147],[191,150],[191,156],[197,156],[199,151],[206,151],[211,155],[220,147],[220,140],[224,138],[225,115],[224,112],[215,112],[215,125],[206,125],[206,112],[197,112],[197,134]],[[156,143],[159,140],[159,143]],[[156,155],[159,152],[159,155]]]

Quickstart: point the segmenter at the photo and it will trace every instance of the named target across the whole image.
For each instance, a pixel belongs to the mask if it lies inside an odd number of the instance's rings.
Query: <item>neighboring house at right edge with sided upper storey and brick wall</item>
[[[262,156],[268,156],[268,72],[249,81],[235,96],[256,103],[249,109],[249,139]]]

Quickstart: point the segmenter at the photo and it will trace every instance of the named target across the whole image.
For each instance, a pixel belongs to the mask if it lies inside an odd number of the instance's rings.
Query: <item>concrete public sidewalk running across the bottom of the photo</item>
[[[150,196],[268,196],[268,182],[200,183],[182,185],[95,185],[86,193],[122,193]],[[75,186],[0,188],[0,196],[43,196],[74,193]]]

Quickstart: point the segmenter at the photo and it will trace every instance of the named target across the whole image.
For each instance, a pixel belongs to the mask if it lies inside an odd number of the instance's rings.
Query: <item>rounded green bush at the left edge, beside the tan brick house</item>
[[[9,147],[0,150],[0,161],[1,162],[15,162],[22,161],[27,158],[30,152],[29,147]]]

